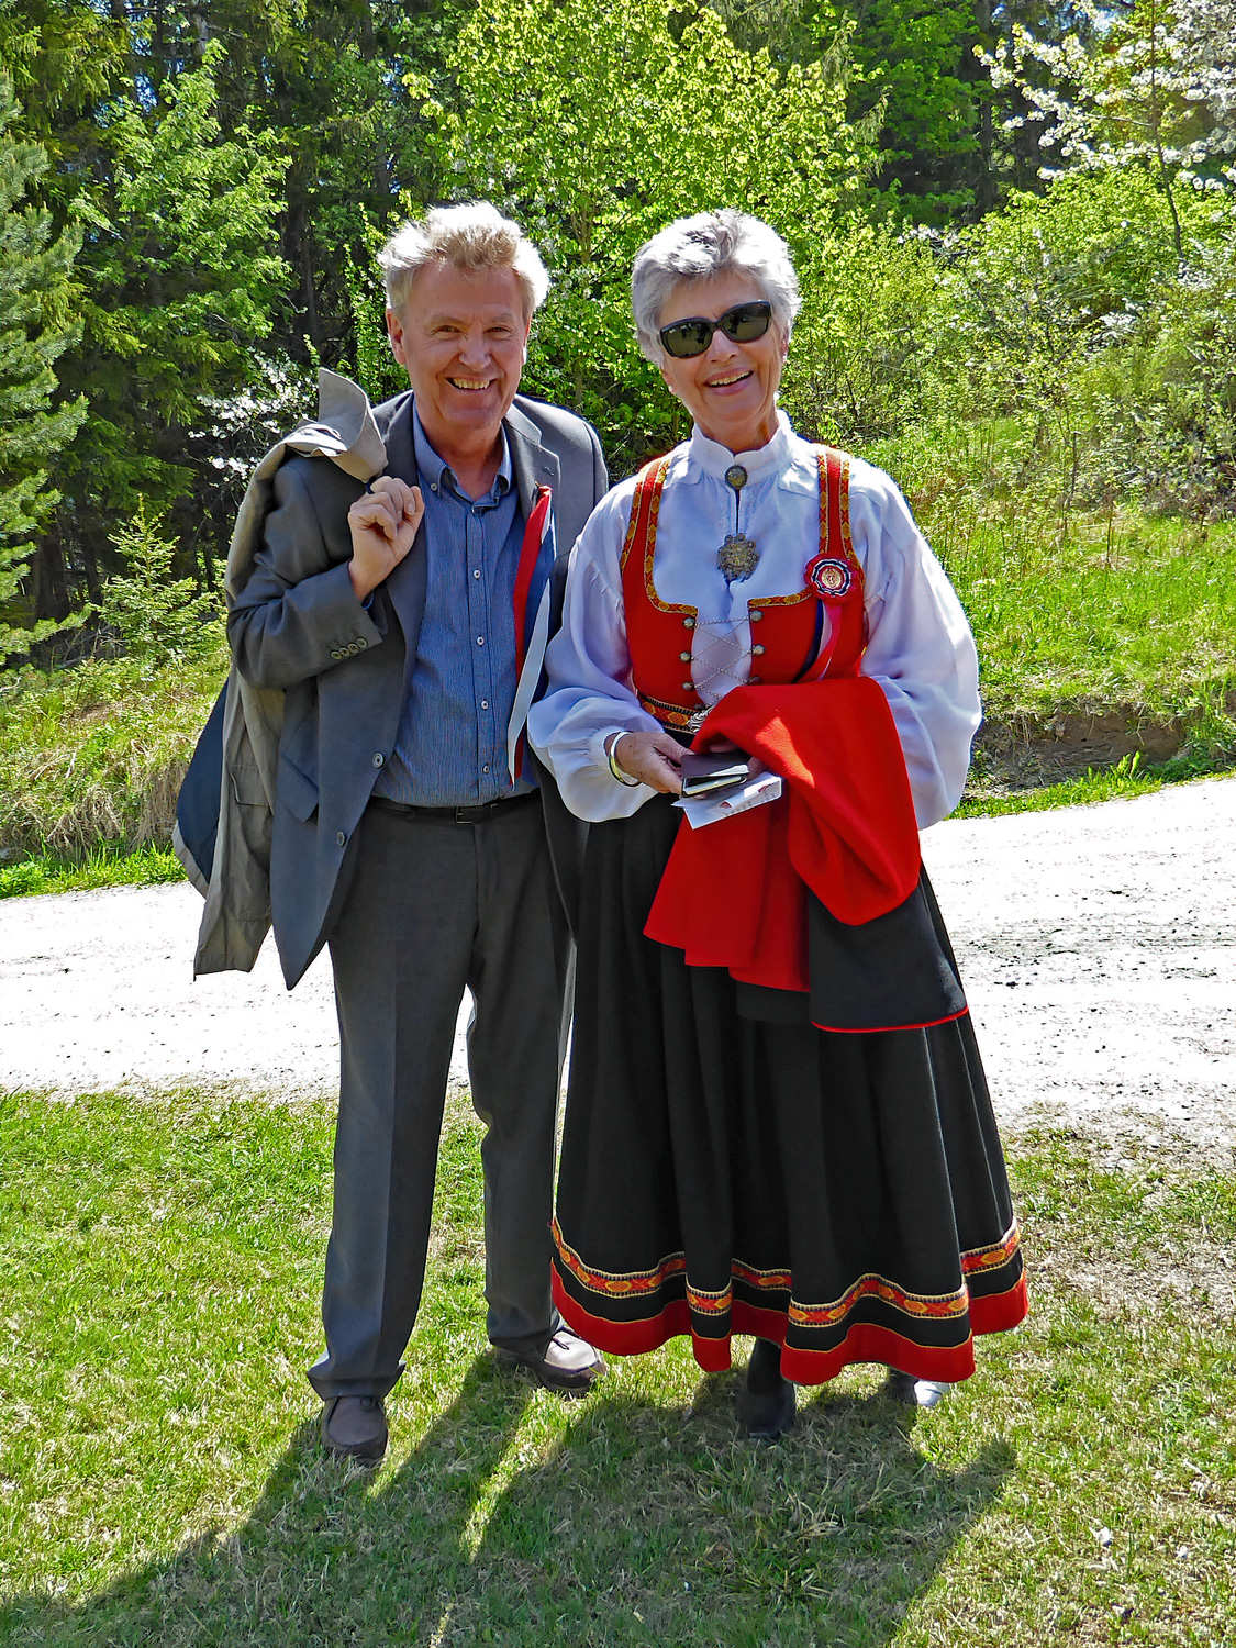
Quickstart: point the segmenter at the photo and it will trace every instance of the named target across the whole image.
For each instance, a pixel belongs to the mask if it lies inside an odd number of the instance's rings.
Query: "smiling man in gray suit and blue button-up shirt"
[[[580,842],[521,728],[605,461],[582,419],[516,396],[549,279],[514,222],[438,208],[381,264],[410,382],[374,409],[386,471],[363,486],[323,456],[285,461],[229,616],[241,676],[285,692],[270,845],[283,971],[295,984],[323,943],[335,969],[335,1216],[310,1381],[325,1445],[368,1460],[386,1450],[382,1398],[420,1302],[465,986],[489,1338],[550,1389],[603,1371],[557,1318],[549,1271]]]

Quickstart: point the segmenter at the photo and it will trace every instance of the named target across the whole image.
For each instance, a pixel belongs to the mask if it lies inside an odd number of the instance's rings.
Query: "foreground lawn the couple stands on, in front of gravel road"
[[[941,1409],[875,1369],[738,1440],[681,1346],[567,1404],[485,1353],[476,1124],[381,1472],[325,1460],[328,1106],[10,1101],[0,1636],[750,1648],[1236,1636],[1233,1163],[1032,1134],[1032,1318]]]

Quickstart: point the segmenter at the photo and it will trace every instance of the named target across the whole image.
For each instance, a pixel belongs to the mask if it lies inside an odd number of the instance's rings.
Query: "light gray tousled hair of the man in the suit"
[[[524,320],[531,320],[549,292],[549,275],[541,254],[511,218],[503,218],[489,201],[463,206],[430,206],[419,222],[396,229],[377,264],[386,283],[386,302],[404,313],[415,272],[428,262],[452,269],[509,269],[524,293]]]

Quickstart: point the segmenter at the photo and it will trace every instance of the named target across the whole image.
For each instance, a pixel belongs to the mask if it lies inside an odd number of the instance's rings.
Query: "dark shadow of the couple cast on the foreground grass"
[[[476,1356],[412,1452],[372,1473],[300,1426],[234,1533],[82,1604],[18,1599],[5,1640],[883,1648],[1014,1465],[992,1437],[939,1468],[918,1416],[880,1398],[801,1393],[791,1437],[756,1449],[737,1439],[733,1374],[686,1411],[606,1383],[562,1406]]]

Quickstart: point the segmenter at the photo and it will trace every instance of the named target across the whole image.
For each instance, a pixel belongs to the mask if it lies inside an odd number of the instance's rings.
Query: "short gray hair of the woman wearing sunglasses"
[[[714,275],[751,275],[773,305],[773,325],[788,338],[803,300],[789,247],[766,222],[725,206],[679,218],[634,254],[631,308],[639,348],[656,366],[666,359],[658,336],[661,310],[677,287]]]

